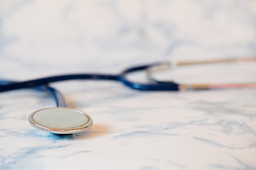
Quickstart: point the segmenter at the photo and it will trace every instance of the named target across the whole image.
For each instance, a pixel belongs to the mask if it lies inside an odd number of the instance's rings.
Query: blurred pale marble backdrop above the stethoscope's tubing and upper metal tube
[[[0,0],[0,76],[256,53],[256,1]]]

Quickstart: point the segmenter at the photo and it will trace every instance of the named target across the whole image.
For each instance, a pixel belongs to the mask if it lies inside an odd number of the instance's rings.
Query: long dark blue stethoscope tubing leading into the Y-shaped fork
[[[152,84],[140,84],[137,82],[129,81],[126,76],[131,72],[137,72],[144,70],[151,65],[143,65],[138,67],[132,67],[124,70],[121,74],[66,74],[53,77],[45,77],[42,79],[33,79],[29,81],[15,82],[12,84],[6,84],[0,86],[0,92],[11,91],[16,89],[32,88],[35,86],[48,85],[57,81],[67,81],[75,79],[94,79],[94,80],[111,80],[111,81],[121,81],[122,84],[128,86],[132,89],[142,90],[142,91],[178,91],[178,84],[168,83],[152,83]]]

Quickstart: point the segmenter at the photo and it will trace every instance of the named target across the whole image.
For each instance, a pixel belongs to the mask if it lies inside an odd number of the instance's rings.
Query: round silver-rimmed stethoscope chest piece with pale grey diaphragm
[[[31,113],[28,121],[34,128],[54,134],[83,132],[92,126],[90,115],[73,108],[44,108]]]

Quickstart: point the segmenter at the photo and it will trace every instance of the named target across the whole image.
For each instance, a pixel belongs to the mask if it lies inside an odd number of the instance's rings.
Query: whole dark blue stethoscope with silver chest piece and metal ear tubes
[[[31,113],[28,117],[29,123],[38,130],[51,132],[54,134],[73,134],[83,132],[92,126],[92,118],[87,113],[73,108],[66,108],[63,95],[48,84],[56,81],[67,81],[75,79],[94,79],[119,81],[125,86],[141,91],[179,91],[184,89],[225,89],[233,87],[256,87],[255,82],[243,84],[184,84],[175,80],[163,80],[154,77],[154,73],[162,72],[167,69],[184,67],[194,64],[218,64],[225,62],[255,62],[256,57],[228,58],[220,60],[201,60],[184,62],[159,62],[146,64],[137,67],[125,69],[120,74],[67,74],[42,79],[33,79],[29,81],[6,81],[0,80],[0,92],[11,91],[15,89],[33,88],[38,91],[47,91],[55,99],[56,108],[43,108]],[[142,84],[127,79],[127,75],[132,72],[146,71],[149,83]]]

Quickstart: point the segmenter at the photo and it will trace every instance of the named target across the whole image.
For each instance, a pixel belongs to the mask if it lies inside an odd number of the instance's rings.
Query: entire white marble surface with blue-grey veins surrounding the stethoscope
[[[255,55],[255,19],[254,0],[0,0],[0,77],[117,74],[163,60]],[[248,72],[241,81],[256,77]],[[146,92],[112,81],[52,86],[94,125],[78,135],[36,130],[28,115],[53,107],[53,98],[30,89],[1,93],[0,169],[256,169],[255,89]]]

